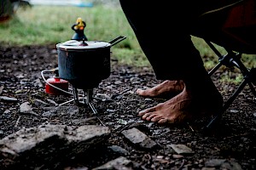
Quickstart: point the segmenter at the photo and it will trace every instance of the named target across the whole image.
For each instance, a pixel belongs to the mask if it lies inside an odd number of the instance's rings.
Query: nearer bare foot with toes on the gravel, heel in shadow
[[[196,95],[195,95],[196,96]],[[207,110],[207,114],[218,111],[222,105],[218,100],[195,99],[187,88],[183,88],[182,93],[165,103],[160,103],[154,107],[139,112],[143,120],[149,122],[163,123],[180,123],[192,117],[199,116]],[[210,96],[211,98],[211,96]],[[208,102],[205,105],[206,101]],[[215,101],[215,102],[214,102]]]

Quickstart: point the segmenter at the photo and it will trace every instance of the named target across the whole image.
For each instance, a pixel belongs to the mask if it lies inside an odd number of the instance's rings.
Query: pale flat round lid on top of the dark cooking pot
[[[65,49],[90,49],[90,48],[105,48],[111,46],[108,42],[101,41],[77,41],[77,40],[69,40],[67,42],[58,43],[56,45],[57,48],[65,48]]]

